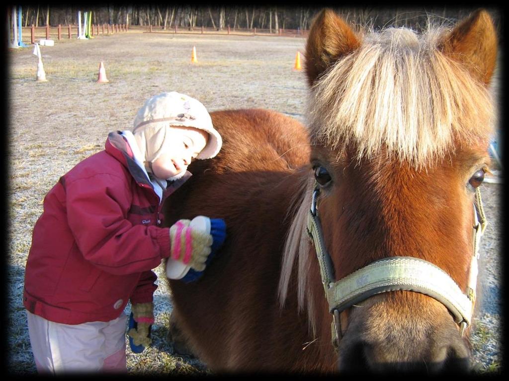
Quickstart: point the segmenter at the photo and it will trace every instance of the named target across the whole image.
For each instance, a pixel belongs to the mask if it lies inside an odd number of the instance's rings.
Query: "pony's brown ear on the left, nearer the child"
[[[338,59],[360,46],[354,31],[332,10],[325,9],[309,30],[305,70],[309,86]]]

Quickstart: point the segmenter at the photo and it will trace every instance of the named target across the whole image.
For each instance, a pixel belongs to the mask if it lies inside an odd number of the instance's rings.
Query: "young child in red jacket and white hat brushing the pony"
[[[190,177],[191,160],[214,157],[221,144],[199,101],[165,92],[138,111],[132,133],[110,133],[105,150],[49,191],[23,293],[39,372],[126,371],[123,311],[130,301],[139,325],[154,322],[151,270],[171,251],[205,269],[212,237],[188,220],[162,228],[161,208]],[[186,248],[191,252],[181,252]]]

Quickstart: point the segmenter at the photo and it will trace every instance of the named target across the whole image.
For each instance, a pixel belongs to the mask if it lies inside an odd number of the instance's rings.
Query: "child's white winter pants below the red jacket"
[[[70,325],[27,311],[30,342],[39,373],[126,372],[127,316]]]

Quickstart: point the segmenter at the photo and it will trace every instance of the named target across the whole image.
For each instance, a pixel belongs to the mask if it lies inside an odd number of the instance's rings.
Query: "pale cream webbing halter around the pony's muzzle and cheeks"
[[[329,303],[329,311],[333,315],[332,343],[336,349],[342,336],[340,322],[342,311],[373,295],[397,290],[414,291],[438,300],[453,314],[463,336],[471,322],[477,284],[479,241],[487,225],[479,188],[475,190],[475,225],[472,227],[474,247],[466,293],[461,291],[458,284],[445,271],[428,261],[413,257],[384,258],[334,281],[334,267],[325,247],[318,216],[319,193],[320,188],[316,183],[311,209],[307,216],[307,233],[315,245],[325,296]]]

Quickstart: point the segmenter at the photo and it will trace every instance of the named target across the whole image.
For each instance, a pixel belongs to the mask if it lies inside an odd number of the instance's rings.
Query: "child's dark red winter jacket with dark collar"
[[[162,202],[120,132],[62,176],[44,198],[25,269],[23,304],[47,320],[116,319],[129,299],[151,302],[169,256]],[[166,188],[163,201],[190,173]]]

